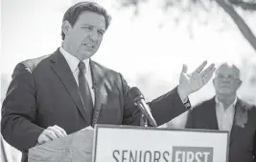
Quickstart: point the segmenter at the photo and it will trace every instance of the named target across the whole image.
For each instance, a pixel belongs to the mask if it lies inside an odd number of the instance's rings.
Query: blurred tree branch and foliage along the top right
[[[148,0],[117,0],[123,8],[135,7],[135,14],[138,13],[138,8],[144,2]],[[243,17],[239,14],[238,10],[244,12],[253,12],[256,10],[256,0],[163,0],[163,8],[161,10],[166,11],[172,8],[178,8],[185,13],[191,13],[194,7],[201,7],[205,11],[211,10],[216,4],[224,10],[238,29],[244,35],[244,38],[248,41],[251,47],[256,51],[256,37],[252,30],[245,23]],[[256,19],[255,19],[256,21]]]

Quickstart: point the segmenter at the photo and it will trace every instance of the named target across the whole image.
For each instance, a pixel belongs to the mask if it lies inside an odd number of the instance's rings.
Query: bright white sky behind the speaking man
[[[62,16],[75,1],[2,0],[2,73],[11,75],[20,61],[56,51],[61,44]],[[188,32],[190,17],[183,16],[177,26],[172,18],[179,16],[178,11],[163,14],[155,10],[159,5],[155,4],[156,1],[151,0],[140,7],[136,18],[132,17],[132,8],[116,10],[113,7],[117,5],[109,3],[111,0],[97,2],[110,12],[113,19],[93,59],[122,72],[130,86],[136,86],[138,75],[151,75],[151,79],[144,81],[155,85],[158,90],[151,97],[168,91],[161,87],[163,83],[169,84],[168,88],[178,84],[182,64],[187,64],[192,72],[205,59],[216,64],[226,60],[241,63],[243,58],[255,56],[255,51],[222,10],[214,10],[208,15],[198,10],[199,19],[209,21],[207,26],[192,23],[192,39]],[[244,17],[256,33],[256,14]],[[208,89],[200,93],[205,91]]]

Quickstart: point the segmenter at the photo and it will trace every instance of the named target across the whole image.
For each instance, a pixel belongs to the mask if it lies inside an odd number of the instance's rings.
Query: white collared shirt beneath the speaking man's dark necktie
[[[73,73],[73,75],[76,79],[76,82],[79,86],[79,63],[80,63],[80,60],[77,57],[75,57],[74,55],[65,51],[62,47],[59,48],[59,51],[65,57],[65,59],[67,61],[67,64],[69,65],[69,68],[72,71],[72,73]],[[89,85],[89,88],[90,88],[90,91],[91,91],[91,96],[92,96],[92,103],[94,105],[94,103],[95,103],[95,92],[92,89],[92,75],[91,75],[91,68],[89,66],[89,59],[85,59],[85,60],[82,60],[82,61],[84,62],[85,67],[86,67],[85,78],[88,82],[88,85]]]

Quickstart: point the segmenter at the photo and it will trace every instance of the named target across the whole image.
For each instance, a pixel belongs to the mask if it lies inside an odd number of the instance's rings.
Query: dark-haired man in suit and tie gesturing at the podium
[[[109,15],[96,3],[81,2],[62,20],[62,46],[52,54],[19,63],[2,107],[1,132],[13,147],[26,152],[37,144],[95,124],[139,125],[141,111],[129,97],[123,75],[92,61]],[[188,95],[205,85],[214,65],[180,73],[179,85],[149,105],[158,125],[189,107]],[[186,107],[187,106],[187,107]]]

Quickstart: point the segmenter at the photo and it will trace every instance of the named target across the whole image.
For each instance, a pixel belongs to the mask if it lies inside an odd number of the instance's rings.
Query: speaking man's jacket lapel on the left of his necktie
[[[52,61],[51,67],[57,73],[62,84],[65,86],[66,90],[69,92],[69,94],[73,98],[79,111],[81,112],[82,117],[86,122],[90,123],[90,121],[88,121],[88,118],[86,117],[87,116],[86,111],[82,105],[81,95],[80,95],[77,82],[64,56],[58,50],[52,54],[51,61]]]

